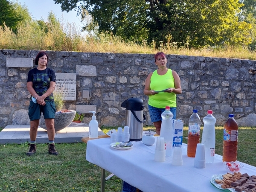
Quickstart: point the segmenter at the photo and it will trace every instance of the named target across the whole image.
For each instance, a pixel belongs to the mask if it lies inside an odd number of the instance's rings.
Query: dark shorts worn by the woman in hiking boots
[[[29,119],[30,121],[40,119],[41,113],[44,114],[44,119],[54,119],[55,118],[55,102],[54,101],[46,101],[45,105],[39,105],[38,103],[34,103],[30,101],[29,104]]]

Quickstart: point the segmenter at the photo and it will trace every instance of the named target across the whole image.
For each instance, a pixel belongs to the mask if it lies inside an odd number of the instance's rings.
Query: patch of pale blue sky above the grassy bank
[[[52,10],[59,20],[63,15],[63,21],[76,23],[76,26],[81,29],[83,26],[80,22],[80,17],[76,16],[76,11],[61,12],[61,5],[55,4],[54,0],[18,0],[21,5],[27,6],[33,19],[40,20],[43,17],[47,20],[48,13]]]

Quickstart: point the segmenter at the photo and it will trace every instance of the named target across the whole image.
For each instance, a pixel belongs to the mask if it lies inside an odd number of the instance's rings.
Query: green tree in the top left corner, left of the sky
[[[20,22],[31,21],[32,18],[26,6],[21,6],[16,1],[0,0],[0,26],[4,28],[4,23],[12,31],[17,32],[17,25]]]

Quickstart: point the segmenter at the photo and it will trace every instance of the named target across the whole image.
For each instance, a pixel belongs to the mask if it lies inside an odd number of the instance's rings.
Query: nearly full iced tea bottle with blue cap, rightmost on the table
[[[237,158],[238,124],[233,114],[228,117],[223,130],[223,162],[236,161]]]

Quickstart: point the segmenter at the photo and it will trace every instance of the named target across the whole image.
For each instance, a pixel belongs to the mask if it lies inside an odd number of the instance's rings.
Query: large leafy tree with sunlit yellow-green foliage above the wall
[[[249,44],[251,25],[240,21],[238,0],[54,0],[61,9],[86,9],[99,24],[124,39],[190,46]],[[188,38],[189,37],[189,38]],[[182,45],[182,44],[180,44]]]

